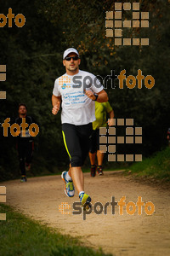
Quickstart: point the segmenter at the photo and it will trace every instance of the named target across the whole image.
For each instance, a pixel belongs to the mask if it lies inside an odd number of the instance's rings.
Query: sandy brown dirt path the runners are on
[[[93,205],[100,201],[103,205],[111,202],[111,197],[119,201],[126,195],[126,203],[136,203],[142,196],[144,203],[151,201],[155,212],[147,215],[128,215],[123,207],[123,215],[116,206],[115,215],[111,213],[96,215],[92,212],[86,220],[81,215],[61,214],[59,205],[78,201],[77,194],[68,198],[64,193],[64,184],[60,176],[33,177],[27,183],[19,180],[0,183],[7,187],[7,204],[27,216],[41,220],[59,230],[62,234],[78,236],[88,246],[102,247],[105,253],[113,255],[170,255],[170,191],[152,188],[149,185],[135,183],[115,172],[105,172],[103,177],[89,177],[85,173],[85,186],[93,198]]]

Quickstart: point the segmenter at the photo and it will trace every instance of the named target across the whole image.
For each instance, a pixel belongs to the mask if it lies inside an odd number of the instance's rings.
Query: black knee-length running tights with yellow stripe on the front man
[[[88,125],[62,124],[65,148],[71,160],[71,167],[80,167],[88,155],[92,123]]]

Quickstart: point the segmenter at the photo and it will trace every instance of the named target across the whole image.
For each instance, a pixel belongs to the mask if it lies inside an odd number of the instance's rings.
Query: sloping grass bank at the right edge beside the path
[[[135,163],[128,168],[138,177],[153,177],[163,181],[170,181],[170,147],[156,153],[154,156]]]

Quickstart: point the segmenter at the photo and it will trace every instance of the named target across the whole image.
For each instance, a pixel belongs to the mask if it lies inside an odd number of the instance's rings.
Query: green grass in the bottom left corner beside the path
[[[11,207],[0,204],[0,212],[6,213],[7,218],[6,221],[0,220],[0,255],[106,255],[101,250],[84,247],[77,239],[62,236],[56,230],[14,212]]]

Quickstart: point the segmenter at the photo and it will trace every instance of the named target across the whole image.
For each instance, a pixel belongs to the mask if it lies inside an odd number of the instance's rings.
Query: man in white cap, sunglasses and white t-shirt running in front
[[[65,194],[79,194],[82,207],[88,207],[91,198],[84,192],[82,165],[89,150],[92,122],[95,120],[95,104],[107,102],[103,85],[94,74],[79,70],[80,57],[77,49],[66,49],[63,55],[66,73],[55,80],[52,96],[52,113],[57,114],[62,99],[62,133],[71,164],[68,172],[62,172]]]

